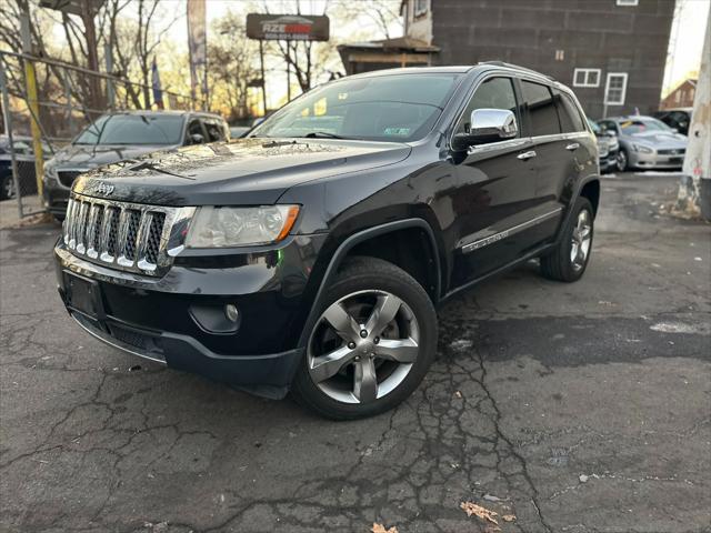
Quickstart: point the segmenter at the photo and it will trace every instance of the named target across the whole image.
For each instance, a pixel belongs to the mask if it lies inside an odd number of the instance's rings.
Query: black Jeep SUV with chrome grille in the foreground
[[[100,340],[333,419],[403,401],[435,306],[532,258],[590,259],[595,138],[572,92],[505,63],[385,70],[244,139],[83,174],[59,291]]]

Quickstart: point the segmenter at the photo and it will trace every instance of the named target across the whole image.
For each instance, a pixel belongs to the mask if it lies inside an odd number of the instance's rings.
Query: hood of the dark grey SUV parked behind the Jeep
[[[164,144],[70,144],[54,154],[51,164],[59,170],[62,168],[89,170],[157,150],[174,148],[177,147]]]

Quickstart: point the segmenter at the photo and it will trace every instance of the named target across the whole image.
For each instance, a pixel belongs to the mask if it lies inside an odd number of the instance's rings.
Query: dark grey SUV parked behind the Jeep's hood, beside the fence
[[[120,111],[101,115],[44,164],[44,207],[63,219],[79,174],[157,150],[229,139],[224,120],[191,111]]]

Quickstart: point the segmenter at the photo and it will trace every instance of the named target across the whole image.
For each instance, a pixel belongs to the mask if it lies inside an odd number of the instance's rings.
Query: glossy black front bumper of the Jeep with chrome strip
[[[281,398],[303,354],[298,340],[316,294],[310,272],[324,239],[299,235],[278,250],[179,255],[162,278],[94,264],[60,241],[58,288],[79,325],[114,348]],[[91,312],[72,302],[77,279],[92,286]],[[239,310],[232,329],[224,328],[228,303]]]

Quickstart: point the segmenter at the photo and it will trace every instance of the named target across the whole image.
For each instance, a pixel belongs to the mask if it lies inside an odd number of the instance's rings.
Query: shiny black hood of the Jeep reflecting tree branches
[[[322,139],[238,139],[156,152],[83,174],[79,193],[160,205],[259,205],[289,188],[392,164],[408,157],[402,143]]]

